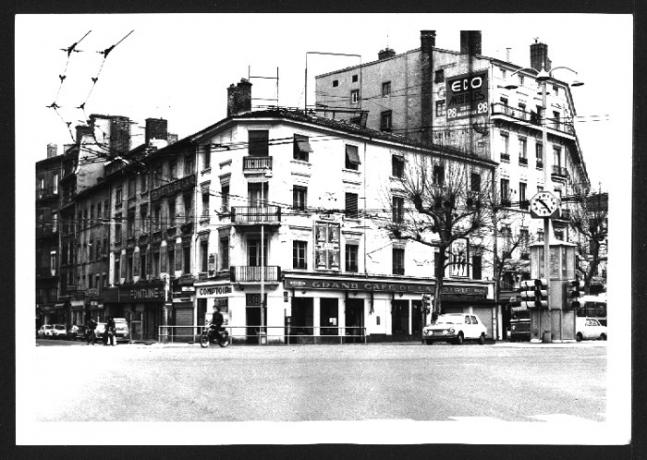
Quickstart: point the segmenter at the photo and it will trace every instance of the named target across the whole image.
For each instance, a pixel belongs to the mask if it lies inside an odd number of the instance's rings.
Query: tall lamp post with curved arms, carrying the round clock
[[[546,91],[546,84],[548,80],[553,78],[553,72],[556,70],[560,69],[565,69],[573,72],[575,75],[577,75],[577,72],[571,69],[570,67],[566,66],[558,66],[554,67],[550,71],[546,71],[545,67],[542,66],[540,71],[537,71],[537,69],[533,68],[522,68],[519,70],[515,70],[510,74],[510,78],[512,78],[514,75],[518,74],[519,72],[523,71],[532,71],[533,73],[536,73],[535,80],[541,84],[541,116],[539,117],[539,123],[541,126],[541,142],[542,142],[542,160],[544,163],[544,187],[548,188],[550,181],[551,181],[551,176],[549,172],[549,165],[548,165],[548,117],[546,116],[546,109],[548,107],[548,103],[546,101],[547,99],[547,91]],[[582,83],[579,80],[574,80],[570,86],[577,87],[577,86],[582,86],[584,83]],[[509,82],[504,86],[505,89],[516,89],[518,88],[518,85]],[[552,187],[551,187],[552,188]],[[559,205],[559,203],[558,203]],[[550,312],[550,230],[551,230],[551,219],[550,217],[544,217],[544,277],[546,278],[546,291],[547,291],[547,309]],[[541,278],[541,276],[540,276]],[[560,315],[561,315],[561,310],[560,310]],[[550,320],[550,316],[549,316]],[[561,317],[560,317],[560,323],[561,323]],[[541,309],[539,310],[539,334],[540,337],[543,337],[542,331],[541,331]],[[561,337],[560,337],[561,340]]]

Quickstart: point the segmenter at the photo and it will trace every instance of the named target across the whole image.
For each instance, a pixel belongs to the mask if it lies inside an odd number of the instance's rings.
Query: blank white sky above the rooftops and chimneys
[[[585,81],[574,88],[580,116],[576,129],[592,184],[621,172],[631,152],[632,18],[629,15],[522,14],[185,14],[30,15],[16,19],[16,121],[20,159],[37,161],[46,145],[70,142],[64,122],[46,105],[56,101],[72,127],[86,114],[126,115],[143,126],[147,117],[168,119],[180,137],[226,115],[226,88],[248,74],[276,75],[279,103],[303,106],[306,51],[355,53],[362,62],[388,46],[396,52],[419,47],[421,29],[437,31],[436,45],[458,50],[461,29],[483,32],[483,54],[529,65],[534,38],[548,44],[553,66],[567,65]],[[65,48],[91,30],[65,70]],[[97,53],[134,32],[105,60]],[[356,58],[311,56],[308,101],[314,76]],[[59,75],[66,75],[61,91]],[[611,78],[611,75],[616,78]],[[569,72],[556,74],[564,80]],[[254,97],[274,98],[271,80],[254,80]],[[134,145],[143,142],[135,130]],[[613,169],[610,169],[613,168]]]

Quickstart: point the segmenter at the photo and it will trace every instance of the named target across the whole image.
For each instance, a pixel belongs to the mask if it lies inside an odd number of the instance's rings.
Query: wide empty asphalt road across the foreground
[[[604,342],[226,349],[38,343],[58,345],[35,349],[34,375],[47,384],[35,396],[40,421],[605,419]]]

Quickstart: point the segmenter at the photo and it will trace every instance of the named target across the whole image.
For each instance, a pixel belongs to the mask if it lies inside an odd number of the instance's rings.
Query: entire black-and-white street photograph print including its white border
[[[633,27],[17,15],[16,443],[629,443]]]

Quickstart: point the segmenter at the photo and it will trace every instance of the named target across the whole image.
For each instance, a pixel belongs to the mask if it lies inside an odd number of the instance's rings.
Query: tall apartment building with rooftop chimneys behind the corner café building
[[[363,118],[369,128],[496,162],[500,202],[514,215],[502,234],[525,232],[529,241],[541,241],[543,228],[530,219],[528,200],[540,190],[570,196],[590,187],[570,86],[551,76],[542,112],[536,75],[542,67],[551,70],[546,44],[530,45],[527,70],[483,56],[480,31],[461,31],[460,39],[460,51],[441,49],[435,46],[435,31],[423,30],[418,49],[396,54],[387,48],[377,61],[319,75],[315,110],[329,118]],[[349,109],[356,113],[348,114]],[[554,220],[553,227],[556,239],[578,238],[569,234],[566,218]],[[527,254],[527,245],[515,251],[517,258]],[[519,277],[507,273],[504,286],[511,289]]]

